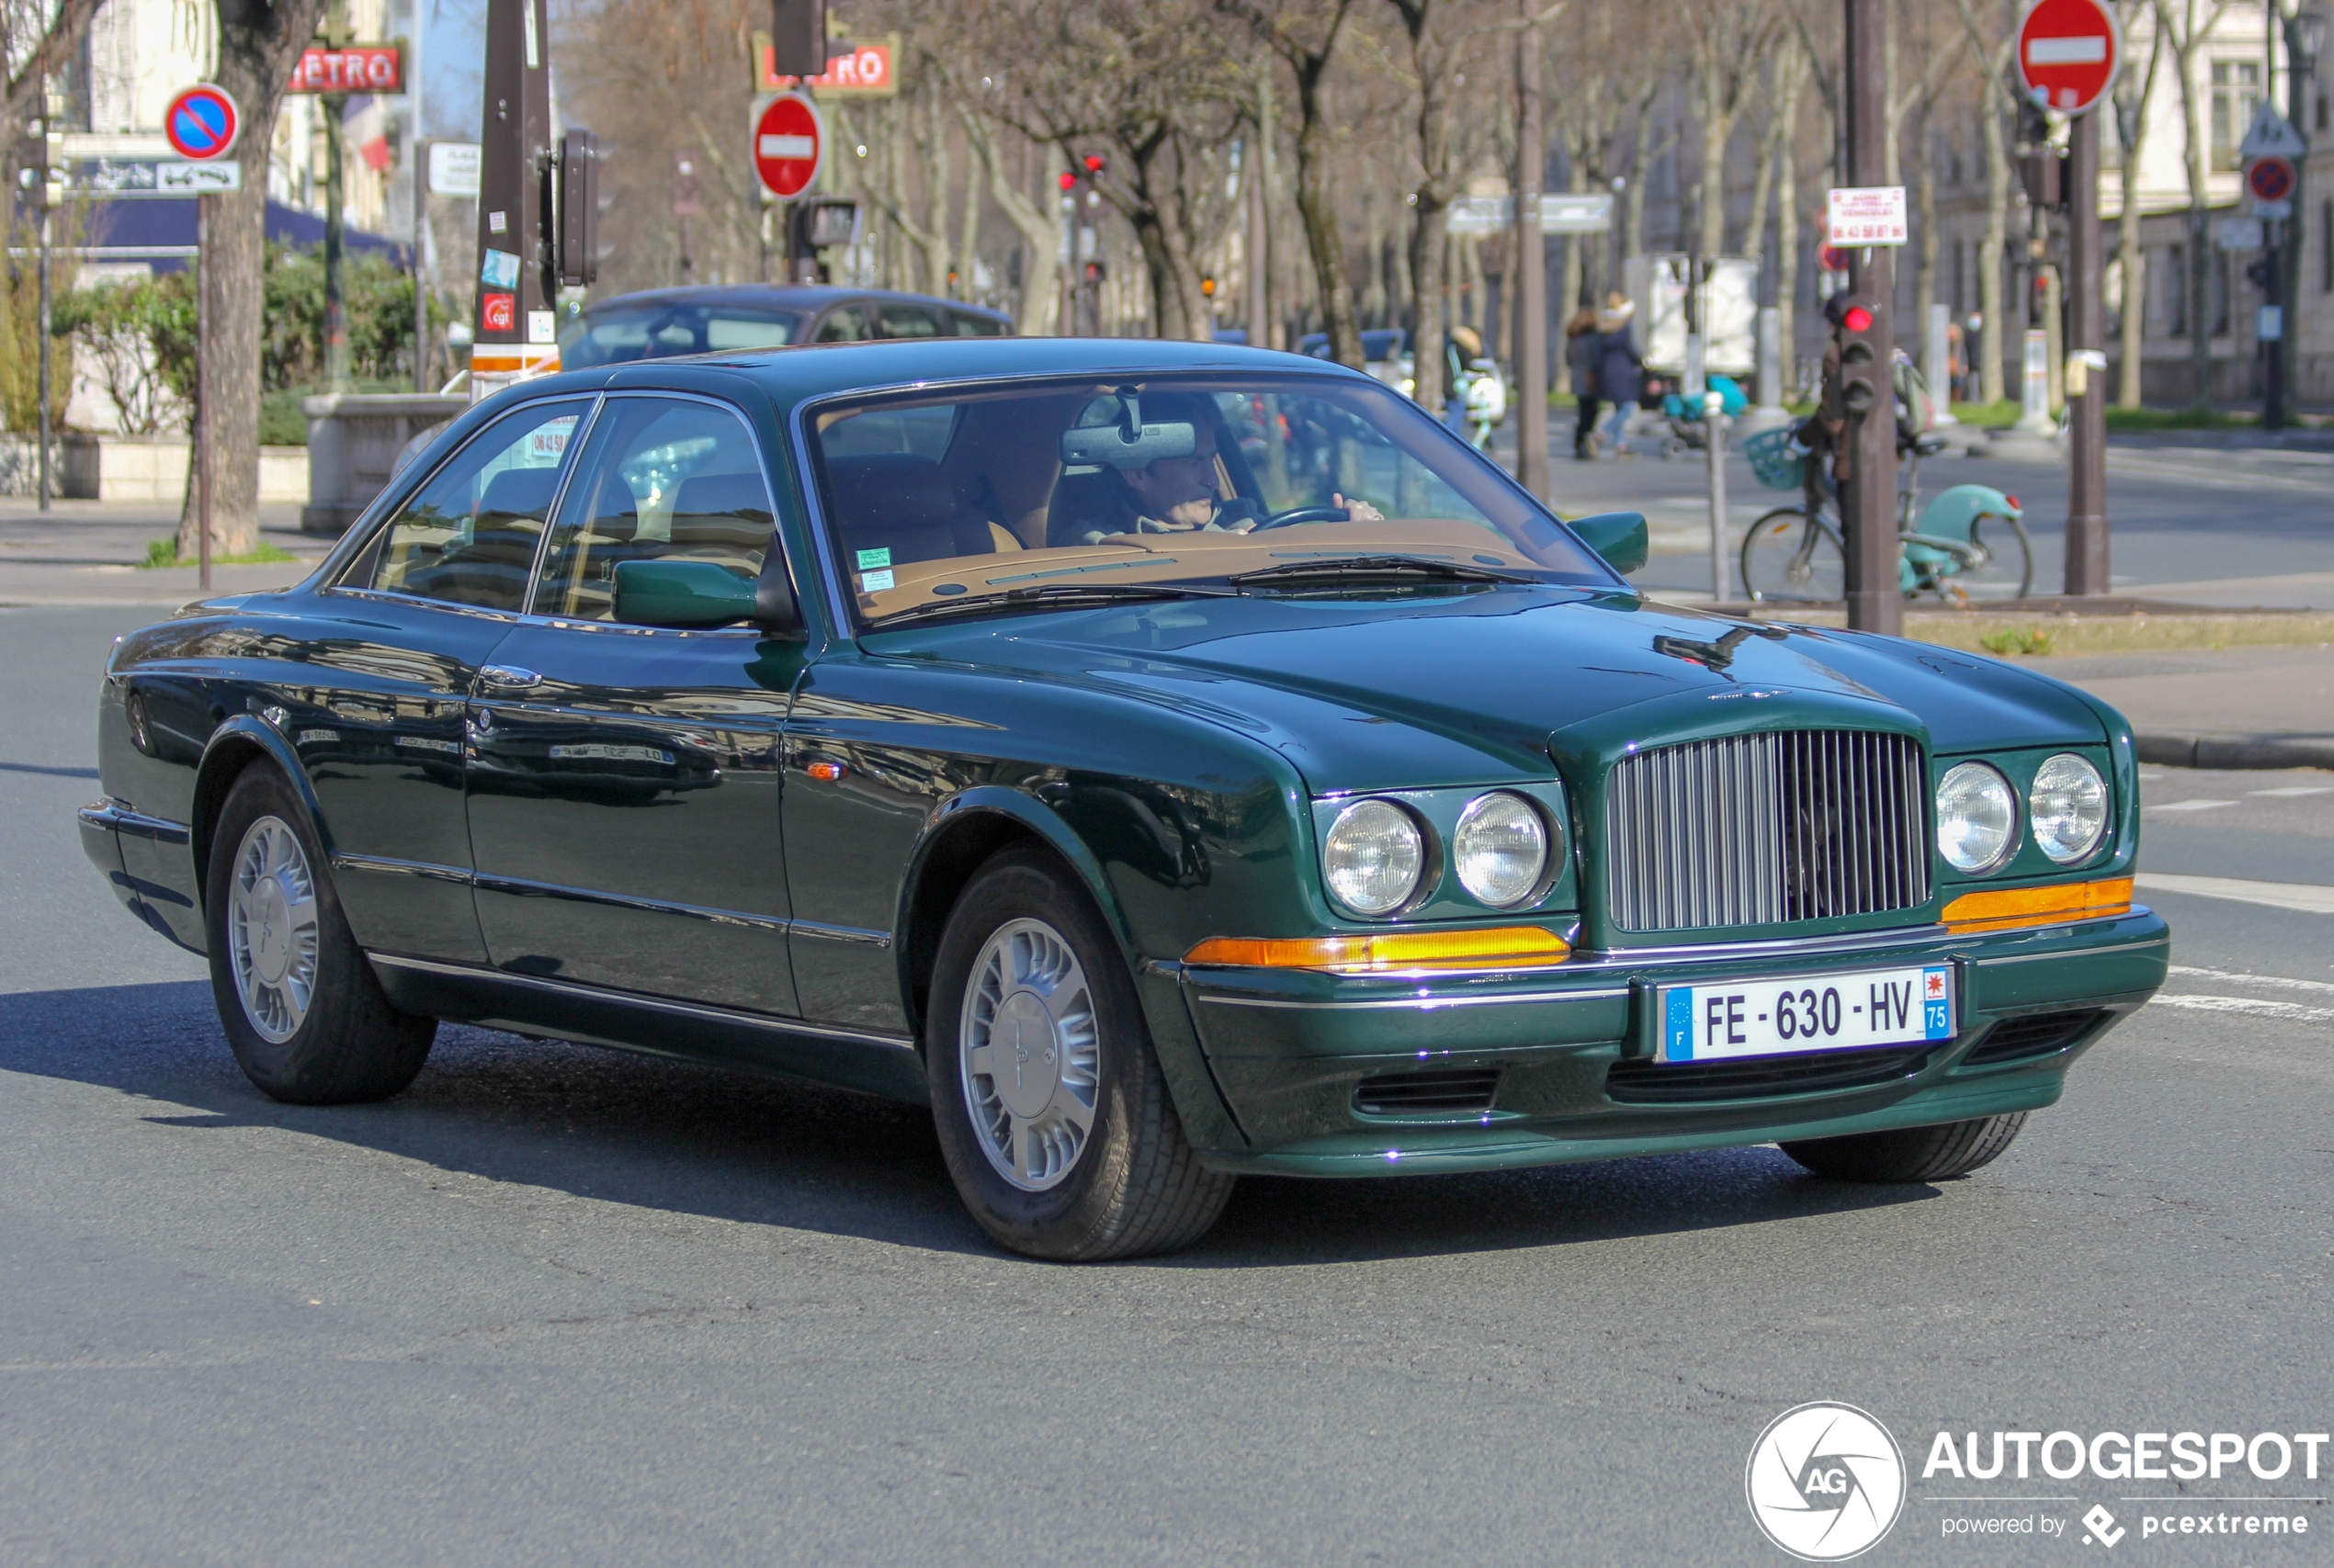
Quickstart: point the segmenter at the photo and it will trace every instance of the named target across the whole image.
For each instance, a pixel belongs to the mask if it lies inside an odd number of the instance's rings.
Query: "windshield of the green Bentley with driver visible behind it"
[[[817,469],[833,558],[866,625],[943,607],[1074,607],[1120,588],[1617,581],[1405,397],[1347,376],[1160,376],[829,404],[817,413]]]

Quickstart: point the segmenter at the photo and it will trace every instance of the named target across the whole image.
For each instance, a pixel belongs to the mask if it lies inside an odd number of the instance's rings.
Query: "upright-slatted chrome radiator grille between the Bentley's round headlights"
[[[1928,903],[1919,742],[1788,730],[1622,758],[1606,901],[1622,931],[1701,931]]]

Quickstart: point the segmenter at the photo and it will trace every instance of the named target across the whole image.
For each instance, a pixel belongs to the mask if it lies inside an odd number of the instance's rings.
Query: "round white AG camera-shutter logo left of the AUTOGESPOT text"
[[[1853,1405],[1786,1409],[1750,1444],[1750,1517],[1807,1563],[1846,1561],[1877,1545],[1905,1507],[1905,1454]]]

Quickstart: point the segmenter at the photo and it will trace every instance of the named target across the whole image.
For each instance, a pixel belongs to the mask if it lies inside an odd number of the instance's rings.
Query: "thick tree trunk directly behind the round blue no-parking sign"
[[[196,268],[210,352],[203,362],[203,446],[210,453],[210,548],[259,548],[259,336],[266,294],[268,147],[275,112],[324,0],[219,0],[219,63],[212,82],[243,107],[236,161],[243,189],[210,198],[210,254]],[[194,488],[177,523],[180,560],[201,553]]]

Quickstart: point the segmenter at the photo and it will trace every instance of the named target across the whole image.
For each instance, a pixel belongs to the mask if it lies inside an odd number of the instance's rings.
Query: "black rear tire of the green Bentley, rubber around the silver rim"
[[[236,936],[229,931],[238,859],[247,835],[264,821],[289,828],[313,887],[313,987],[296,1020],[278,1020],[296,1022],[285,1038],[271,1038],[271,1029],[254,1017],[254,1003],[245,1001],[236,982]],[[383,996],[373,966],[341,915],[315,826],[273,763],[252,763],[226,791],[210,835],[203,905],[219,1024],[236,1062],[261,1094],[296,1106],[341,1106],[387,1099],[422,1071],[436,1020],[399,1013]]]

